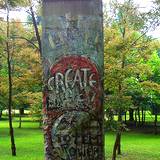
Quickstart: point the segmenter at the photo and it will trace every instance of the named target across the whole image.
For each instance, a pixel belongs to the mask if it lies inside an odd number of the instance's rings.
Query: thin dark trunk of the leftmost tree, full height
[[[16,156],[16,146],[14,141],[14,130],[12,126],[12,73],[11,73],[11,63],[10,63],[10,49],[9,49],[9,6],[6,1],[7,8],[7,41],[6,41],[6,51],[7,51],[7,64],[8,64],[8,85],[9,85],[9,97],[8,97],[8,117],[9,117],[9,128],[11,137],[11,150],[12,156]]]

